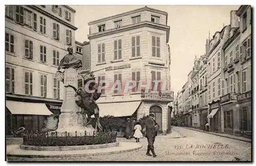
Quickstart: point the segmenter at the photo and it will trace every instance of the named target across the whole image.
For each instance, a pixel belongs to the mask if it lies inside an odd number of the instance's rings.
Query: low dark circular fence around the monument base
[[[27,133],[23,136],[23,145],[30,146],[82,146],[116,143],[116,131],[98,132],[94,135],[70,136],[67,132],[63,136],[49,136],[48,133]],[[57,133],[56,133],[57,135]]]

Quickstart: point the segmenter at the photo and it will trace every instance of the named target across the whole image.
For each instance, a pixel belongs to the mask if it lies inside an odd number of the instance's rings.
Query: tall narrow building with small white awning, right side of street
[[[221,132],[221,57],[223,56],[222,46],[226,36],[229,35],[230,25],[225,26],[220,32],[217,31],[209,42],[209,53],[207,55],[207,84],[208,84],[208,121],[210,131]]]

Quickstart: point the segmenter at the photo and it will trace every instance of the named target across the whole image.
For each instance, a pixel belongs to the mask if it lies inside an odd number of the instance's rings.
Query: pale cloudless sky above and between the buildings
[[[79,42],[89,41],[88,22],[109,17],[144,6],[70,6],[76,10],[75,38]],[[168,13],[167,25],[170,26],[169,42],[171,52],[170,90],[175,94],[187,81],[193,69],[195,55],[205,54],[206,39],[223,26],[230,24],[230,11],[240,6],[150,6]]]

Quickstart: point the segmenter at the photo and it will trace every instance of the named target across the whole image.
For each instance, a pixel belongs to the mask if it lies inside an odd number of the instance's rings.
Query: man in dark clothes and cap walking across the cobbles
[[[154,151],[154,142],[155,142],[155,138],[157,136],[157,131],[159,130],[159,125],[156,123],[156,121],[154,120],[155,114],[151,113],[145,120],[145,128],[146,128],[146,137],[147,137],[147,142],[148,142],[148,146],[147,146],[147,151],[146,151],[146,155],[148,156],[152,156],[150,154],[150,151],[153,154],[153,157],[156,157],[156,153]]]

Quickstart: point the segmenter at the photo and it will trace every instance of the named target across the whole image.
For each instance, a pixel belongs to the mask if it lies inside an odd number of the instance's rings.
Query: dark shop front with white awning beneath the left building
[[[22,126],[28,131],[39,131],[44,127],[44,122],[49,115],[60,112],[61,103],[49,104],[42,102],[6,100],[6,134],[12,135],[11,132]],[[55,108],[51,109],[53,106]]]

